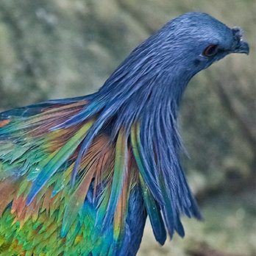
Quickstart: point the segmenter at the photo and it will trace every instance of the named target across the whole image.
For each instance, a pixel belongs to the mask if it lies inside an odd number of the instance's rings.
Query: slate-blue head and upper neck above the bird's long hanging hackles
[[[99,93],[115,99],[119,95],[121,103],[132,93],[141,98],[141,93],[154,94],[157,88],[180,99],[185,85],[202,69],[230,53],[249,54],[242,35],[240,28],[230,29],[206,13],[180,15],[132,51]]]

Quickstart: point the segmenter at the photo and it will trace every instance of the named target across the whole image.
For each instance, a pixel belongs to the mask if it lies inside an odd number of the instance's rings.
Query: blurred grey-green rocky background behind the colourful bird
[[[254,0],[1,0],[0,110],[91,93],[138,43],[171,18],[209,13],[241,26],[251,52],[202,71],[180,126],[189,182],[205,221],[160,247],[147,224],[138,255],[256,254]]]

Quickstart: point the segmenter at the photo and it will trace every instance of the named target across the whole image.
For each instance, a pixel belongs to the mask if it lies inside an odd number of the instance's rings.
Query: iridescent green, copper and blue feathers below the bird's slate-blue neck
[[[140,196],[138,212],[146,207],[159,243],[166,229],[184,235],[163,177],[147,171],[139,122],[113,139],[104,127],[94,132],[99,115],[77,121],[88,105],[46,102],[0,114],[0,252],[125,255],[129,208]],[[193,216],[191,202],[182,207]]]

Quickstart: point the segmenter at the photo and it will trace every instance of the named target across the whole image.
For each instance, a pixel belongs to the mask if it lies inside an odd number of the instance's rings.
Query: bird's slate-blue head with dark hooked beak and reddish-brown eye
[[[227,54],[249,54],[242,36],[239,27],[230,29],[206,13],[185,13],[169,21],[146,45],[153,46],[156,61],[163,63],[161,68],[193,77]]]

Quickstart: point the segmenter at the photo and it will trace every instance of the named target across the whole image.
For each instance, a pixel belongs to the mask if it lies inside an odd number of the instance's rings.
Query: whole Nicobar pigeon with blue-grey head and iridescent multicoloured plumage
[[[146,218],[160,245],[201,219],[180,163],[191,78],[231,53],[240,27],[179,15],[96,93],[0,113],[0,254],[136,255]]]

